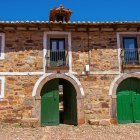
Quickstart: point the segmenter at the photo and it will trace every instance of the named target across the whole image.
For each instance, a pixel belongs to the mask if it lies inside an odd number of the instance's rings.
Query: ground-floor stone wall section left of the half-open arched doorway
[[[5,76],[5,97],[0,101],[0,119],[32,117],[33,87],[39,76]]]

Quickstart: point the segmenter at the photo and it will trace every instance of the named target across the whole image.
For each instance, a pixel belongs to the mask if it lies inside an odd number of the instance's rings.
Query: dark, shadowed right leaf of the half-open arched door
[[[77,125],[77,102],[75,88],[68,81],[65,81],[63,91],[64,123]]]

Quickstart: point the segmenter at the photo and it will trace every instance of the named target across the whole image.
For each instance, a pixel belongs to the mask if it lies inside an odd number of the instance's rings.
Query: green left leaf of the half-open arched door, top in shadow
[[[58,79],[47,82],[41,91],[41,124],[59,124]]]

